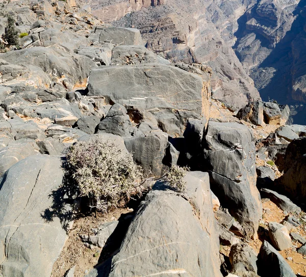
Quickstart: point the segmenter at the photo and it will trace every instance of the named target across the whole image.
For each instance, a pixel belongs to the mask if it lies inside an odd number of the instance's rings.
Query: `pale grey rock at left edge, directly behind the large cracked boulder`
[[[38,147],[33,140],[9,142],[0,152],[0,176],[17,162],[37,154],[39,154]]]

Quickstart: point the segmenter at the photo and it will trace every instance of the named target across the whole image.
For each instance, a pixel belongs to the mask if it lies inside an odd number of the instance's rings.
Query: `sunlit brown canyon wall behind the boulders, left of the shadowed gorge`
[[[139,29],[146,46],[165,58],[185,63],[203,62],[213,68],[214,97],[234,110],[248,100],[257,100],[253,86],[232,45],[238,29],[238,18],[254,1],[93,1],[93,12],[118,27]],[[135,6],[136,5],[136,6]],[[102,8],[99,6],[103,6]],[[94,11],[96,9],[96,11]],[[128,13],[133,10],[133,13]],[[127,14],[128,13],[128,14]],[[106,18],[105,16],[109,16]]]

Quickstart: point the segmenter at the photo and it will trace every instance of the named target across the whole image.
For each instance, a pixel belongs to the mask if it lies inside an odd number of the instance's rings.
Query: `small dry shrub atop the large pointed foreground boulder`
[[[165,180],[169,183],[169,186],[175,188],[177,192],[184,193],[186,191],[186,182],[184,178],[188,171],[189,167],[174,165],[170,168]]]

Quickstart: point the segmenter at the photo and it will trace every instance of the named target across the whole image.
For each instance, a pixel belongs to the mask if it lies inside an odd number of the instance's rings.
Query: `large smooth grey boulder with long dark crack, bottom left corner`
[[[1,271],[6,277],[49,276],[66,241],[59,218],[45,221],[42,212],[62,184],[57,157],[31,156],[13,165],[1,178]],[[35,235],[33,235],[35,234]]]

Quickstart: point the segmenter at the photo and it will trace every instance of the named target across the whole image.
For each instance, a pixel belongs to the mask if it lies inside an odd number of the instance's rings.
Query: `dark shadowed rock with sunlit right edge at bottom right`
[[[258,256],[258,274],[262,277],[296,277],[293,270],[273,246],[264,241]]]

